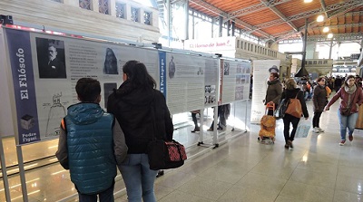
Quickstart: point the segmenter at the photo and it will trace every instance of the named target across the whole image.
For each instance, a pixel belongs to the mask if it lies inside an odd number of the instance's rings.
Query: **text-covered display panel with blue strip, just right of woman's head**
[[[162,56],[164,55],[164,56]],[[172,114],[204,107],[205,58],[182,53],[160,53],[166,73],[166,101]],[[162,61],[160,62],[162,65]],[[162,72],[161,72],[162,75]],[[162,76],[161,76],[162,79]]]

